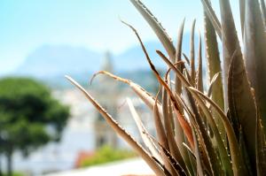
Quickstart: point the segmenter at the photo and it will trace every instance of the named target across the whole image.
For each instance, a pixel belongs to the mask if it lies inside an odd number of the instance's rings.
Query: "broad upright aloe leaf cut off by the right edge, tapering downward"
[[[244,53],[246,72],[266,126],[266,35],[258,0],[246,0]],[[264,129],[264,133],[266,130]]]

